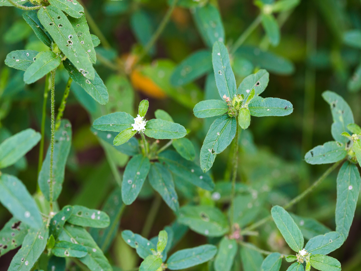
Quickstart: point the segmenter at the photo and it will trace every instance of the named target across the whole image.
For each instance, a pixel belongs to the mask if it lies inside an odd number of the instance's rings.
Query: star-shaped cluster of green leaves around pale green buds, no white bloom
[[[229,53],[222,42],[214,43],[212,62],[218,93],[223,100],[205,100],[193,108],[194,115],[199,118],[220,115],[210,126],[201,148],[200,165],[204,172],[212,167],[216,155],[230,145],[238,129],[237,123],[247,129],[251,115],[286,116],[293,111],[287,100],[259,96],[268,85],[266,70],[247,76],[237,89]]]

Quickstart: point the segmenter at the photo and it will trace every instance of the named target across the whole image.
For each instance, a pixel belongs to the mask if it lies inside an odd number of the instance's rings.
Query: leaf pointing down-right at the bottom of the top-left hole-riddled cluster
[[[64,68],[68,70],[71,79],[81,86],[94,100],[100,104],[106,104],[109,100],[108,90],[104,85],[103,80],[94,71],[94,79],[86,79],[81,72],[79,72],[73,64],[68,61],[63,61]]]

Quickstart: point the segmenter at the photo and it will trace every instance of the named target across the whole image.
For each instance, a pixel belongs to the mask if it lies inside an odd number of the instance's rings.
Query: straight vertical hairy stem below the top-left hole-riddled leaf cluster
[[[50,210],[53,211],[53,161],[54,161],[54,134],[55,134],[55,71],[51,71],[51,141],[50,141],[50,183],[49,183],[49,202]]]

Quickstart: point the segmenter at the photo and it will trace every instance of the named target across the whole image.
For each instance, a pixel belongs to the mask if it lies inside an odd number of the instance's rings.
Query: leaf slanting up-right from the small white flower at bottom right
[[[311,238],[305,245],[305,250],[312,254],[327,255],[342,246],[345,237],[338,232],[329,232]]]

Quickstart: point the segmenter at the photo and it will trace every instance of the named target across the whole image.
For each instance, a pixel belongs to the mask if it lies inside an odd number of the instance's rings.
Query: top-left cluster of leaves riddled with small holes
[[[93,68],[96,62],[94,47],[100,41],[90,34],[83,7],[76,0],[44,1],[42,5],[38,11],[24,12],[23,18],[49,51],[13,51],[6,56],[5,64],[25,71],[23,79],[27,84],[38,81],[63,64],[71,79],[98,103],[106,104],[108,91]]]

